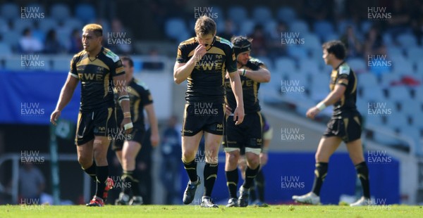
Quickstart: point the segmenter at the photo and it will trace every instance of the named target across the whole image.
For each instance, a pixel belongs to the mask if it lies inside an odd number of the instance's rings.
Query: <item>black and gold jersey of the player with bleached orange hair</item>
[[[125,74],[115,53],[102,47],[97,57],[90,60],[88,53],[81,51],[73,56],[69,73],[81,82],[80,111],[114,107],[113,77]]]

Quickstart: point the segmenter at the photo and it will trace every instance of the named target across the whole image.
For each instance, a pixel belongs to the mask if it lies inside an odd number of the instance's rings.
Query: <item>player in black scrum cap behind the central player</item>
[[[243,100],[245,117],[243,124],[236,125],[232,119],[233,108],[236,107],[235,96],[226,79],[226,140],[223,143],[226,152],[225,173],[230,198],[226,207],[247,207],[250,186],[260,169],[259,155],[262,151],[262,115],[258,99],[260,83],[270,81],[270,72],[264,64],[250,57],[251,40],[245,37],[231,39],[235,51],[238,74],[243,85]],[[245,180],[240,187],[240,197],[237,198],[238,161],[240,150],[245,149],[247,169]]]

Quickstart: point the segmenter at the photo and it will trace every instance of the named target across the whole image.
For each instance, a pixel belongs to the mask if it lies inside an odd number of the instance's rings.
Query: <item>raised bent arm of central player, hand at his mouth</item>
[[[187,63],[175,63],[175,66],[173,67],[173,80],[176,82],[176,84],[184,82],[185,79],[187,79],[191,75],[192,70],[194,70],[195,64],[199,60],[201,60],[201,58],[206,53],[206,47],[202,44],[199,44],[197,48],[195,48],[194,56],[192,56],[192,58],[188,60]]]

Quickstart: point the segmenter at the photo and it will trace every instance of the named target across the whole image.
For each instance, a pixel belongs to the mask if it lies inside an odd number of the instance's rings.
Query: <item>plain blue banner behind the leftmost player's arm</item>
[[[49,124],[67,72],[1,72],[0,123]],[[80,85],[61,118],[76,122],[80,107]]]

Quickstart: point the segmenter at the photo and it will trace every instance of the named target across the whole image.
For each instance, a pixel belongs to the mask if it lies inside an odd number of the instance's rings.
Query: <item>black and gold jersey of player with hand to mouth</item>
[[[178,63],[187,63],[198,46],[196,37],[183,41],[178,46]],[[199,60],[188,77],[185,100],[188,103],[214,102],[223,103],[225,96],[224,79],[226,70],[232,73],[236,69],[233,45],[221,37],[214,37],[207,53]]]

